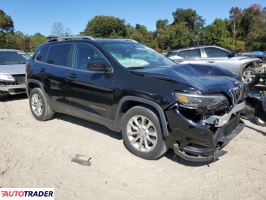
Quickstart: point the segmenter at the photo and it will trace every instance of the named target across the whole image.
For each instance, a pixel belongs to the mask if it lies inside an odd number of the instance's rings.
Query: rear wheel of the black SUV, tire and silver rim
[[[35,119],[46,121],[52,119],[54,112],[40,88],[33,88],[29,97],[30,110]]]

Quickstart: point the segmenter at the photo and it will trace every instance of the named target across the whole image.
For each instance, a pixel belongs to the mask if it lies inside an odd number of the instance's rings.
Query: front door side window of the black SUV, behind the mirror
[[[94,46],[90,44],[76,44],[76,69],[88,70],[88,68],[97,62],[108,62],[104,55]]]

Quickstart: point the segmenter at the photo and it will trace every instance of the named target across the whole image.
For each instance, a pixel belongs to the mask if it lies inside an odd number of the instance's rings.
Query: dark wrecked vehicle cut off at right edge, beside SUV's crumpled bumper
[[[266,126],[266,73],[258,75],[261,82],[249,89],[247,106],[253,110],[252,121]]]

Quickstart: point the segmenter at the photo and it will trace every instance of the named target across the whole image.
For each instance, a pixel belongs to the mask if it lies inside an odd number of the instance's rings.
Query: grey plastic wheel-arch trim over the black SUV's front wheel
[[[154,101],[145,99],[145,98],[134,97],[134,96],[125,96],[122,99],[120,99],[118,106],[117,106],[117,109],[116,109],[116,113],[115,113],[115,120],[114,120],[114,125],[113,125],[115,129],[120,128],[120,125],[121,125],[121,122],[120,122],[121,108],[122,108],[123,104],[125,102],[128,102],[128,101],[135,101],[135,102],[143,103],[143,104],[149,105],[152,108],[154,108],[159,114],[163,135],[169,136],[169,131],[167,128],[167,121],[166,121],[164,112],[163,112],[162,108],[159,106],[159,104],[157,104]]]

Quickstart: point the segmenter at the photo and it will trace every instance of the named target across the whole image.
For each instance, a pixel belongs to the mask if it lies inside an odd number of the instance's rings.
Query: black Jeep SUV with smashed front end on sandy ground
[[[210,161],[244,127],[246,85],[230,72],[177,65],[134,40],[50,38],[26,71],[37,120],[58,112],[102,124],[145,159],[173,148],[186,160]]]

